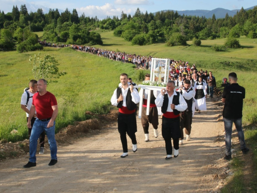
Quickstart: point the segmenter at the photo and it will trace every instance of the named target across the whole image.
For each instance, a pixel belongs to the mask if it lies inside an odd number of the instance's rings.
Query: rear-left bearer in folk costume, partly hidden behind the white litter
[[[145,81],[150,80],[150,74],[146,74]],[[141,96],[141,92],[143,90],[141,89],[139,92],[139,96]],[[148,99],[148,94],[151,93],[151,99],[150,99],[150,110],[149,110],[149,115],[146,115],[146,107],[147,107],[147,99]],[[144,90],[143,93],[143,107],[142,107],[142,116],[141,116],[141,123],[142,127],[144,130],[144,135],[145,135],[145,142],[149,142],[149,123],[153,125],[154,128],[154,136],[155,138],[158,137],[158,125],[159,125],[159,120],[158,120],[158,110],[155,104],[155,99],[158,96],[159,91],[152,91],[152,90]]]

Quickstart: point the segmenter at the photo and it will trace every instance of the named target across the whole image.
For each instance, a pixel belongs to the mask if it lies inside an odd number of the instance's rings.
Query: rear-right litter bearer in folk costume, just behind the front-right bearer
[[[190,80],[184,81],[183,89],[179,89],[180,94],[184,97],[185,101],[188,104],[188,108],[186,111],[180,112],[180,131],[181,138],[179,138],[179,145],[183,144],[184,134],[183,128],[185,129],[185,133],[187,135],[186,141],[190,141],[190,133],[191,133],[191,125],[192,125],[192,105],[193,105],[193,97],[194,91],[191,86]]]

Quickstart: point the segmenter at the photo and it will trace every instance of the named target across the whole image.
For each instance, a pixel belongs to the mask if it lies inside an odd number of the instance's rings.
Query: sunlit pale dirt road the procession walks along
[[[48,149],[37,155],[33,168],[23,168],[25,157],[1,162],[0,192],[214,192],[223,184],[213,176],[222,170],[216,162],[222,162],[225,145],[223,122],[217,121],[222,107],[214,100],[208,98],[208,111],[196,112],[191,141],[184,140],[176,158],[164,160],[161,119],[158,138],[150,126],[150,141],[145,143],[137,118],[137,152],[132,152],[128,140],[128,156],[120,158],[117,127],[94,131],[69,146],[59,146],[58,163],[52,167]]]

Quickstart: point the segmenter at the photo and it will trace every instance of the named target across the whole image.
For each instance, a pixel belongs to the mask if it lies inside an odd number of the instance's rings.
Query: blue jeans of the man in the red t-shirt
[[[48,121],[41,121],[38,118],[35,119],[34,125],[32,127],[31,135],[29,138],[29,161],[36,162],[36,147],[38,146],[38,138],[40,134],[45,131],[48,143],[50,145],[51,160],[57,160],[57,144],[54,129],[56,128],[56,121],[53,122],[53,126],[47,128]]]

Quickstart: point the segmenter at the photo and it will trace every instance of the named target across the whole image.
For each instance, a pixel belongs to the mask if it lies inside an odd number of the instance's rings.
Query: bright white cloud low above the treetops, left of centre
[[[115,15],[120,17],[121,12],[123,11],[126,14],[134,14],[136,9],[125,9],[125,8],[115,8],[114,5],[106,3],[103,6],[86,6],[81,8],[76,8],[79,15],[83,12],[85,16],[95,17],[97,16],[98,19],[104,19],[106,16],[110,16],[111,18]]]

